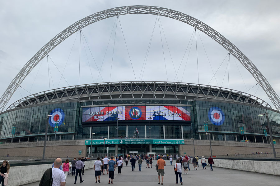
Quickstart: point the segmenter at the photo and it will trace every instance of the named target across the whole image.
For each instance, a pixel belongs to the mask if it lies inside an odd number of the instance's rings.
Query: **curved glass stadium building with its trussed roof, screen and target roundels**
[[[0,113],[0,143],[43,141],[46,125],[49,141],[86,139],[87,153],[91,138],[92,153],[103,153],[104,138],[108,153],[116,148],[118,153],[178,153],[182,139],[207,139],[206,130],[214,141],[244,137],[271,143],[260,113],[268,113],[279,144],[280,112],[244,92],[181,82],[86,84],[40,92],[11,104]]]

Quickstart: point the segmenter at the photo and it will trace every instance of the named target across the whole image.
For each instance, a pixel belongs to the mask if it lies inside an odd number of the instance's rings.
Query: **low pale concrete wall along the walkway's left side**
[[[92,169],[95,161],[86,161],[85,169]],[[9,173],[9,186],[18,186],[40,181],[45,170],[52,164],[13,166]]]

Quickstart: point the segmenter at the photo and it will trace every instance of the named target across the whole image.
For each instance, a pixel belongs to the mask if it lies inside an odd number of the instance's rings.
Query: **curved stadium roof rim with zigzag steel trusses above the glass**
[[[64,100],[86,101],[125,98],[173,98],[187,100],[204,98],[271,108],[267,102],[254,95],[228,88],[194,83],[138,81],[93,83],[43,91],[17,100],[7,110]]]

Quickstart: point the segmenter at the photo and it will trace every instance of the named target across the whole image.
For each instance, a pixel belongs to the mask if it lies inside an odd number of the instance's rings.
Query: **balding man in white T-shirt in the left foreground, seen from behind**
[[[66,184],[65,182],[66,173],[64,174],[64,172],[59,169],[61,164],[62,164],[62,160],[60,158],[57,158],[54,161],[54,167],[52,168],[52,177],[51,177],[53,179],[52,186],[64,186]],[[69,160],[68,160],[68,164],[69,164]]]

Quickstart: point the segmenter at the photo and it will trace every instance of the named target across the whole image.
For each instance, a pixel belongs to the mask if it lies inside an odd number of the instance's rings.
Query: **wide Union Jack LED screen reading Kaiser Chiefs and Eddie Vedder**
[[[190,106],[105,106],[83,107],[82,122],[170,120],[191,121]]]

